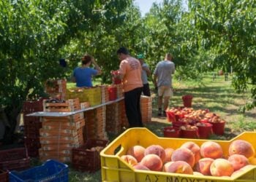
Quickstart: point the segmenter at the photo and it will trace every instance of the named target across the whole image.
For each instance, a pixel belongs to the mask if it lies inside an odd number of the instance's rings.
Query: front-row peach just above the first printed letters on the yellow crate
[[[141,160],[140,165],[148,167],[149,170],[161,171],[162,159],[157,154],[147,154]]]

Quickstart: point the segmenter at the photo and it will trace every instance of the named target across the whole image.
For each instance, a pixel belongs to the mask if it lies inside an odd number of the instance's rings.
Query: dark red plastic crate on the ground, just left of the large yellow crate
[[[72,149],[72,167],[81,172],[95,172],[99,170],[101,166],[100,150],[92,151],[89,149],[92,147],[102,147],[104,149],[108,142],[106,140],[89,139],[84,146]]]

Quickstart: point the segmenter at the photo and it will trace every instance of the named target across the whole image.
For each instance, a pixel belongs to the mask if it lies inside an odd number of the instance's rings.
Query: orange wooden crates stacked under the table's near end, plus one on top
[[[80,109],[78,98],[69,100],[44,100],[44,111],[71,112]],[[42,128],[39,131],[41,149],[39,157],[58,159],[61,162],[71,162],[72,148],[83,144],[83,113],[71,116],[44,116]]]

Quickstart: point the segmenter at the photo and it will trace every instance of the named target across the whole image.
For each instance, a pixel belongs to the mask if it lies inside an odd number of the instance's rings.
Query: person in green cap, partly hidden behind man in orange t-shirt
[[[142,92],[143,92],[143,95],[150,97],[151,93],[150,93],[149,84],[148,84],[148,76],[151,75],[151,71],[148,67],[148,64],[145,63],[145,61],[144,61],[143,54],[138,55],[137,58],[138,58],[138,60],[140,60],[140,64],[141,64],[141,68],[142,68],[142,73],[141,73],[141,79],[143,82]]]

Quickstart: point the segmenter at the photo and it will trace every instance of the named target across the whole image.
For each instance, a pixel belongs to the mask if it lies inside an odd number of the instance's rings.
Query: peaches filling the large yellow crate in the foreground
[[[121,156],[135,170],[162,171],[188,175],[211,175],[236,178],[256,165],[255,149],[244,140],[235,140],[228,146],[225,157],[222,146],[215,141],[205,141],[198,146],[187,141],[178,149],[159,145],[132,146]]]

